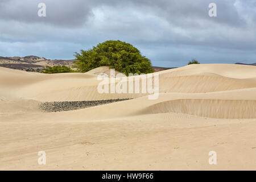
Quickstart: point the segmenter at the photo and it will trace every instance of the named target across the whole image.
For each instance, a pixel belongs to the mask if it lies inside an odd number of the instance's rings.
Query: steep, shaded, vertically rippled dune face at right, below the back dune
[[[172,100],[147,108],[147,114],[183,113],[208,118],[256,118],[256,101],[246,100]]]

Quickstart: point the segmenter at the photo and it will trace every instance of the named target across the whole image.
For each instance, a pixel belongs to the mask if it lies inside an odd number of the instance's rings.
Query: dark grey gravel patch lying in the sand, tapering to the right
[[[47,113],[67,111],[67,110],[77,110],[86,107],[93,107],[97,105],[109,104],[112,102],[119,102],[130,100],[131,98],[123,99],[113,99],[113,100],[98,100],[98,101],[62,101],[62,102],[43,102],[39,105],[39,108]]]

